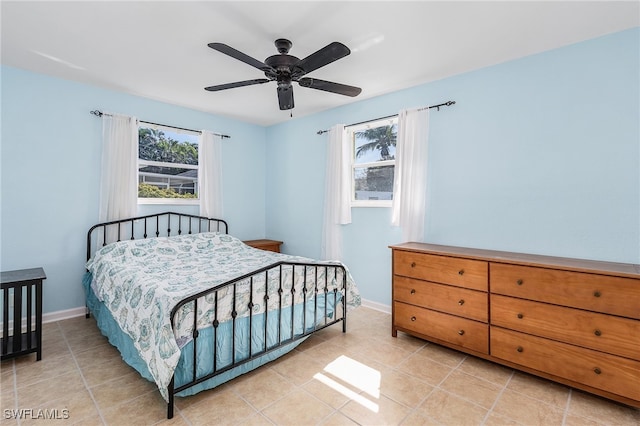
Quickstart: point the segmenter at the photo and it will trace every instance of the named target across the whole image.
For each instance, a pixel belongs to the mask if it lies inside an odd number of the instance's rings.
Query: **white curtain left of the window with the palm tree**
[[[344,124],[329,130],[324,192],[324,260],[342,259],[342,225],[351,223],[351,145]]]

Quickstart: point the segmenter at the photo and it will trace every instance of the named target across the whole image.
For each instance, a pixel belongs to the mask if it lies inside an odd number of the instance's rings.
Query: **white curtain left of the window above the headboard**
[[[138,120],[119,114],[102,114],[100,222],[133,217],[137,210]],[[107,232],[109,241],[117,239],[117,229]]]

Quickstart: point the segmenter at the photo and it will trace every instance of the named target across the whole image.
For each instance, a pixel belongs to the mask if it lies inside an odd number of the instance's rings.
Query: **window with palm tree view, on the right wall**
[[[352,146],[351,205],[391,207],[398,117],[347,127]]]

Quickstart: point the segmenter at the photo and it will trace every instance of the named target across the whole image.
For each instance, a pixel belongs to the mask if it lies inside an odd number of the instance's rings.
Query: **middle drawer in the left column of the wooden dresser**
[[[487,293],[396,275],[393,298],[436,311],[487,322]]]

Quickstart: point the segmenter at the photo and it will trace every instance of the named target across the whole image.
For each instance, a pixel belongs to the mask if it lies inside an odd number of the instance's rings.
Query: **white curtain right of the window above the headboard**
[[[222,137],[203,130],[198,151],[200,215],[222,218]]]

